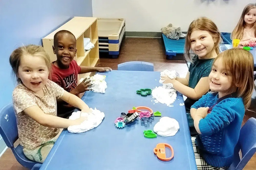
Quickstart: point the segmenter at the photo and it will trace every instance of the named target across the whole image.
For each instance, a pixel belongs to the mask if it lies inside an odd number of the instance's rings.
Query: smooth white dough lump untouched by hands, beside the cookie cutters
[[[179,122],[171,117],[161,117],[154,126],[154,132],[159,136],[174,136],[179,130]]]

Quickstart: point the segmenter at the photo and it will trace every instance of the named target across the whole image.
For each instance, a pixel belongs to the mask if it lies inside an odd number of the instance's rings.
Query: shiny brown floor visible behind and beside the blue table
[[[183,59],[182,56],[174,57]],[[180,77],[185,77],[188,71],[185,60],[166,60],[163,42],[160,38],[125,38],[118,59],[101,58],[97,67],[111,67],[117,70],[117,65],[128,61],[143,61],[154,63],[154,71],[163,71],[165,69],[174,69]],[[248,118],[256,117],[256,93],[253,94],[251,104],[252,111],[246,111],[243,119],[245,123]],[[256,155],[251,158],[244,170],[256,169]],[[26,170],[22,167],[13,156],[12,151],[8,148],[0,158],[0,170]]]

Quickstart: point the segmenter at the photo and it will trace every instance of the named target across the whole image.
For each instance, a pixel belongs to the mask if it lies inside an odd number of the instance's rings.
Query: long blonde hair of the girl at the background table
[[[253,8],[256,8],[256,3],[249,3],[248,5],[246,5],[244,7],[242,15],[237,23],[237,26],[231,33],[232,40],[234,40],[234,39],[242,40],[243,39],[243,27],[245,25],[244,16],[250,11],[250,9],[253,9]],[[255,29],[254,36],[256,37],[256,22],[254,23],[253,27]]]

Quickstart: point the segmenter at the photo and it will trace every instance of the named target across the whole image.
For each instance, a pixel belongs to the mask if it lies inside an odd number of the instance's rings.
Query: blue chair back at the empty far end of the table
[[[154,71],[154,64],[150,62],[124,62],[118,64],[117,69],[125,71]]]

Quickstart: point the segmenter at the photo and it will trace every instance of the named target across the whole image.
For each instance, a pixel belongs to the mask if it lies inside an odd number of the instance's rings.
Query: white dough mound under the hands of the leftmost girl
[[[105,114],[96,108],[90,108],[92,113],[81,113],[81,111],[73,112],[72,115],[69,117],[70,120],[76,120],[80,116],[87,117],[86,121],[83,121],[80,125],[73,125],[67,128],[68,132],[70,133],[83,133],[88,130],[91,130],[95,127],[98,127],[101,124]],[[81,114],[81,115],[80,115]]]

